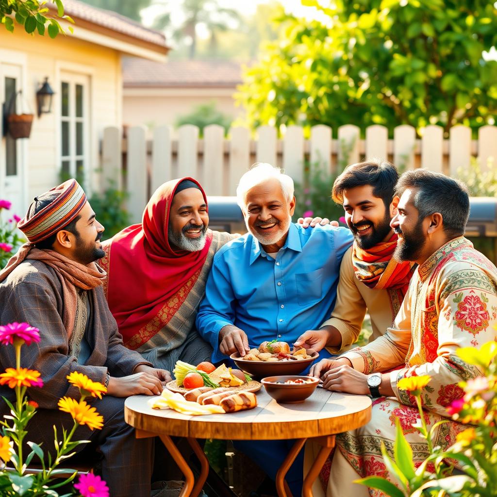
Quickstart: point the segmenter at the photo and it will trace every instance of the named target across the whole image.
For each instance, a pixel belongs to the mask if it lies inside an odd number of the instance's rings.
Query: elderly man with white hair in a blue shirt
[[[346,228],[305,230],[292,223],[293,180],[269,164],[242,176],[237,197],[248,233],[214,256],[196,318],[197,330],[214,348],[213,362],[237,350],[244,356],[265,340],[291,344],[304,331],[318,330],[333,309],[340,262],[353,240]],[[243,444],[244,452],[264,461],[273,479],[292,445]],[[293,495],[300,495],[302,459],[294,465],[288,475],[295,481],[288,483]]]

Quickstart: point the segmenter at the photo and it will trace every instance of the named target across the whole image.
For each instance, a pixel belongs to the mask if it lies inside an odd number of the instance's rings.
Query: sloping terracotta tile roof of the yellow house
[[[78,0],[64,0],[64,12],[73,18],[83,19],[97,26],[102,26],[161,47],[167,47],[166,36],[163,33],[146,28],[139,22],[116,12],[93,7]],[[77,24],[78,22],[76,22]]]

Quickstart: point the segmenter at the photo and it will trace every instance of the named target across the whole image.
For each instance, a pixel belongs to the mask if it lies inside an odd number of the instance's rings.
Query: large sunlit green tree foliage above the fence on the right
[[[239,100],[250,125],[447,131],[495,116],[494,0],[301,1],[319,20],[280,16],[279,39],[245,73]]]

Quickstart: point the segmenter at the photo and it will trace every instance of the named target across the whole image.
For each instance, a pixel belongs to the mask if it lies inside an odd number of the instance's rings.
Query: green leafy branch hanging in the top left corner
[[[43,36],[45,28],[50,38],[59,33],[65,34],[57,19],[74,23],[69,15],[64,14],[62,0],[53,0],[57,13],[52,14],[47,6],[47,0],[0,0],[0,21],[7,31],[14,31],[15,24],[24,26],[26,33]],[[47,26],[48,24],[48,26]],[[69,26],[72,33],[73,28]]]

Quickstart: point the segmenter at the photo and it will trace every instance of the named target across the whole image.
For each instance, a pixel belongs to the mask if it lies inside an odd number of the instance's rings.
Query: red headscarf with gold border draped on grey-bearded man
[[[200,274],[212,242],[197,252],[174,251],[167,238],[176,188],[185,177],[167,181],[149,200],[142,223],[104,242],[102,266],[108,272],[107,300],[127,347],[136,349],[160,331],[185,301]]]

